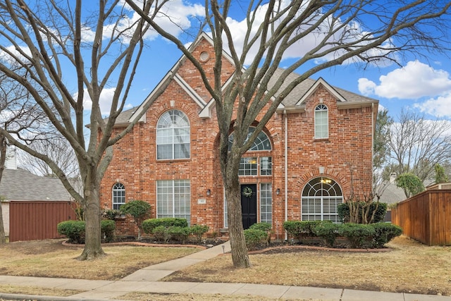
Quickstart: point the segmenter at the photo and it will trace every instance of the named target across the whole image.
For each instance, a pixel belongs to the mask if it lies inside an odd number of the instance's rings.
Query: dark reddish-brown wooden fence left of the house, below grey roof
[[[56,226],[75,220],[75,203],[54,201],[11,201],[9,241],[61,238]]]

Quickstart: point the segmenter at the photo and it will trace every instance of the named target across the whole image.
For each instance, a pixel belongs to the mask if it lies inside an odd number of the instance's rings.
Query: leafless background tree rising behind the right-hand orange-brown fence
[[[433,178],[435,164],[445,164],[451,159],[449,121],[427,120],[403,110],[388,137],[390,157],[398,175],[412,173],[424,182]]]

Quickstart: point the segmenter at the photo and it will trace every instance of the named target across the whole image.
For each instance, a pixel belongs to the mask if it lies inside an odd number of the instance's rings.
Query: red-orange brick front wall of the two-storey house
[[[203,37],[192,53],[199,57],[204,51],[210,58],[204,62],[204,68],[212,76],[214,51],[208,39]],[[223,68],[225,82],[233,73],[233,65],[224,58]],[[176,74],[175,78],[166,78],[163,93],[154,99],[145,118],[114,146],[113,161],[101,182],[101,205],[112,208],[113,185],[122,183],[125,201],[142,199],[149,202],[151,217],[156,217],[156,181],[186,179],[190,182],[190,223],[206,224],[210,232],[218,233],[225,223],[214,106],[208,106],[209,94],[190,61],[181,59],[171,70],[173,74]],[[302,191],[312,179],[322,177],[335,181],[342,190],[343,199],[350,197],[352,191],[362,194],[371,190],[377,102],[356,94],[348,100],[323,80],[312,83],[310,90],[298,95],[299,101],[304,97],[302,102],[278,110],[267,123],[264,132],[271,141],[271,150],[245,154],[270,156],[272,175],[240,177],[241,183],[257,184],[257,221],[260,221],[260,183],[271,183],[271,223],[279,238],[284,235],[285,219],[302,219]],[[194,97],[191,92],[195,92]],[[315,139],[314,115],[319,104],[325,104],[328,109],[326,139]],[[189,119],[189,159],[156,159],[156,125],[161,115],[170,109],[182,111]],[[209,118],[199,116],[206,110],[211,110]],[[120,125],[118,130],[121,130]],[[288,176],[286,188],[285,175]],[[117,231],[118,234],[136,235],[135,227],[128,220],[119,221]]]

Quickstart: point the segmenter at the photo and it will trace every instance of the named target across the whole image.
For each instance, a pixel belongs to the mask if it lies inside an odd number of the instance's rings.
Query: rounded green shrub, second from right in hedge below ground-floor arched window
[[[376,233],[373,226],[359,223],[344,223],[340,225],[339,233],[347,238],[352,248],[371,247]]]

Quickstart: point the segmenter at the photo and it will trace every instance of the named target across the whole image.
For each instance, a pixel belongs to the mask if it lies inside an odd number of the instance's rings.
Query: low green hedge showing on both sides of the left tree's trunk
[[[114,221],[102,220],[100,222],[102,237],[105,242],[114,240]],[[66,235],[70,243],[85,243],[85,221],[61,221],[58,223],[57,230],[61,235]]]

